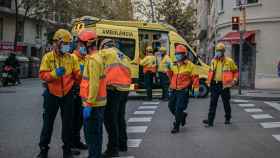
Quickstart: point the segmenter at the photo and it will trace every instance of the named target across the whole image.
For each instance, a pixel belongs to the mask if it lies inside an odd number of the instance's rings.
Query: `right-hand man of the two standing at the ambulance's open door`
[[[168,94],[168,89],[169,89],[169,78],[167,76],[168,72],[168,64],[171,62],[169,55],[167,53],[167,50],[165,47],[161,47],[159,49],[159,56],[160,60],[157,62],[158,63],[158,75],[159,75],[159,80],[160,80],[160,86],[162,88],[162,99],[167,101],[169,94]]]

